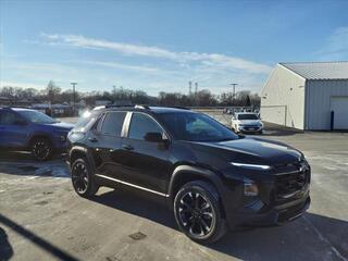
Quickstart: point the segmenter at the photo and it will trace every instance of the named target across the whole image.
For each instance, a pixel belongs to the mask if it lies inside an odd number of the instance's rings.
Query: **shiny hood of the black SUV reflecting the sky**
[[[215,148],[220,150],[219,152],[216,151],[217,156],[221,154],[228,161],[241,163],[279,165],[298,162],[302,158],[300,151],[283,142],[260,138],[197,144],[206,148]]]

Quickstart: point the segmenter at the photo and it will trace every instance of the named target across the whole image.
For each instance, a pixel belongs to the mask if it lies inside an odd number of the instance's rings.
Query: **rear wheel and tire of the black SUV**
[[[72,164],[71,173],[73,187],[78,196],[89,198],[97,194],[99,186],[96,184],[87,159],[75,160]]]

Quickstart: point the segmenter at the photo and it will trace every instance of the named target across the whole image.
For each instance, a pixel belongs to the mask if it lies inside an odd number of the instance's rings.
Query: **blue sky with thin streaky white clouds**
[[[0,84],[260,91],[277,62],[348,60],[348,1],[0,0]]]

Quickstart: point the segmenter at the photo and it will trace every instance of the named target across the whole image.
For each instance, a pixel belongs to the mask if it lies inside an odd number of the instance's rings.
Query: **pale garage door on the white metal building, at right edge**
[[[348,97],[332,97],[331,110],[335,112],[335,129],[348,129]]]

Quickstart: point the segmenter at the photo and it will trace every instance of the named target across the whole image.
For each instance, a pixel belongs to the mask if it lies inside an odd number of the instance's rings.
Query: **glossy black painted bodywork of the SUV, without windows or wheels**
[[[122,137],[98,134],[98,121],[105,111],[127,111]],[[169,109],[176,110],[176,109]],[[303,154],[282,142],[260,138],[239,138],[221,142],[194,142],[175,140],[165,126],[169,140],[151,142],[127,138],[127,130],[133,112],[146,113],[161,124],[156,110],[107,109],[95,117],[91,129],[69,135],[71,141],[70,161],[76,153],[87,157],[97,173],[100,185],[130,185],[136,188],[163,196],[170,208],[173,206],[177,183],[188,176],[210,181],[221,195],[222,206],[231,228],[243,224],[282,224],[297,217],[310,204],[309,182],[298,194],[283,201],[275,200],[276,177],[281,173],[299,171],[299,164],[310,166]],[[79,139],[72,137],[78,136]],[[268,164],[270,170],[247,170],[234,166],[232,161]],[[309,177],[310,178],[310,177]],[[260,195],[256,198],[244,196],[244,183],[252,181],[259,186]],[[115,183],[116,182],[116,183]],[[289,210],[294,210],[284,221]]]

